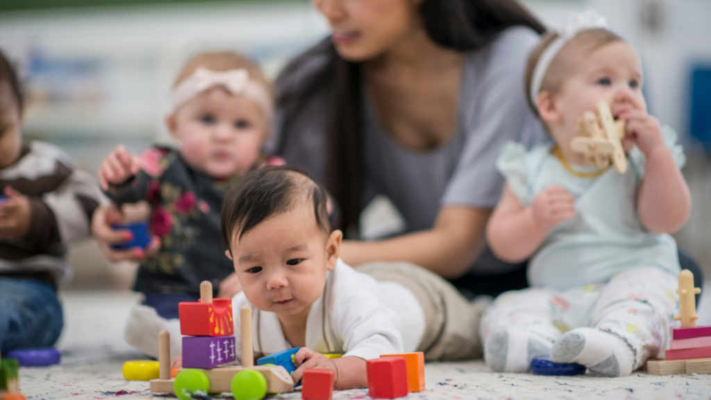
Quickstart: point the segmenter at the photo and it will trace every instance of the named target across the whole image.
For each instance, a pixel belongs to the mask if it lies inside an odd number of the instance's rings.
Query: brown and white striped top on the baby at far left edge
[[[54,283],[70,279],[64,254],[70,244],[88,237],[100,193],[92,175],[77,171],[55,146],[23,143],[20,158],[0,170],[6,186],[26,195],[31,220],[22,239],[0,237],[0,276],[48,276]]]

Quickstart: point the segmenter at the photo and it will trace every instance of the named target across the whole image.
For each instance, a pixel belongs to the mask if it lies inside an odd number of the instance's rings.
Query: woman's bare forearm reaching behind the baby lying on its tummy
[[[410,261],[447,279],[463,275],[481,254],[491,210],[446,206],[432,229],[375,242],[346,240],[341,258],[357,266],[371,261]]]

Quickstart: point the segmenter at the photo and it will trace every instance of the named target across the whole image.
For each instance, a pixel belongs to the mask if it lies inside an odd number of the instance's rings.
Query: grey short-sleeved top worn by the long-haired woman
[[[523,84],[528,53],[538,40],[538,34],[529,28],[513,27],[485,48],[467,54],[456,131],[447,143],[432,150],[412,151],[392,139],[365,92],[364,205],[375,195],[387,195],[404,217],[408,232],[431,228],[443,206],[487,210],[496,206],[503,178],[494,164],[503,143],[514,140],[530,148],[545,140],[540,121],[526,101]],[[318,66],[319,60],[306,63],[304,69],[309,65]],[[298,79],[299,71],[294,75],[292,78]],[[280,156],[322,179],[327,94],[309,103],[304,115],[289,126],[298,134],[279,146],[283,149]],[[277,113],[272,146],[279,141],[281,123]]]

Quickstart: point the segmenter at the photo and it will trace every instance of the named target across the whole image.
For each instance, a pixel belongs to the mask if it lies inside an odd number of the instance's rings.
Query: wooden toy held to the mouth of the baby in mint
[[[597,168],[607,168],[612,161],[617,172],[626,173],[627,158],[621,141],[625,136],[626,123],[612,119],[610,106],[606,102],[597,104],[597,113],[599,118],[593,112],[584,112],[578,121],[578,136],[570,141],[570,148],[582,153]]]

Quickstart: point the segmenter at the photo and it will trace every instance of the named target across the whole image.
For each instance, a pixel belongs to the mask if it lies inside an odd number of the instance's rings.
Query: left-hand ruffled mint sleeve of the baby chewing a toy
[[[526,148],[523,144],[507,141],[501,146],[501,153],[496,159],[496,169],[503,175],[508,188],[516,195],[521,206],[531,202],[531,190],[526,168]]]

